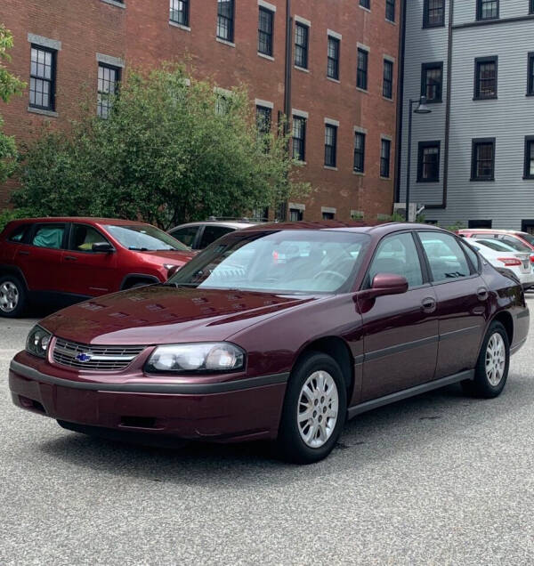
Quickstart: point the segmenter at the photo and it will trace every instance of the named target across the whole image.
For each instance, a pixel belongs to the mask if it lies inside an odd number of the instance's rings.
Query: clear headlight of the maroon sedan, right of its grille
[[[245,352],[226,342],[158,346],[146,363],[147,372],[210,373],[245,366]]]

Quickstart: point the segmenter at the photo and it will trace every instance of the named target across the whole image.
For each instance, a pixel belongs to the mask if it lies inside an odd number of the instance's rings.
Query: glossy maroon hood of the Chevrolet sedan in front
[[[280,311],[319,300],[163,285],[139,287],[75,304],[41,325],[81,344],[150,345],[225,340]]]

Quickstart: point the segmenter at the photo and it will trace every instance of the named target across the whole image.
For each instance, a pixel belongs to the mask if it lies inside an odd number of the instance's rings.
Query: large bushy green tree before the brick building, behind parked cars
[[[142,217],[166,229],[250,214],[307,190],[281,128],[258,134],[243,87],[221,97],[213,84],[164,65],[130,72],[109,103],[107,119],[89,101],[68,132],[45,130],[29,146],[17,206]]]

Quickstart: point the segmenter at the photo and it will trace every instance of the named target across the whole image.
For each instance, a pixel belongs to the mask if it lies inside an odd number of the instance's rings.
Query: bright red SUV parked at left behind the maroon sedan
[[[164,282],[193,257],[150,224],[104,218],[32,218],[0,233],[0,316],[28,300],[76,303]]]

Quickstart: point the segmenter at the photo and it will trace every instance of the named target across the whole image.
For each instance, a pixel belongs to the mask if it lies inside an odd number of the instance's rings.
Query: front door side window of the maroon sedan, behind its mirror
[[[401,275],[408,280],[409,287],[423,285],[421,263],[410,233],[394,234],[380,242],[369,268],[369,285],[378,273]]]

